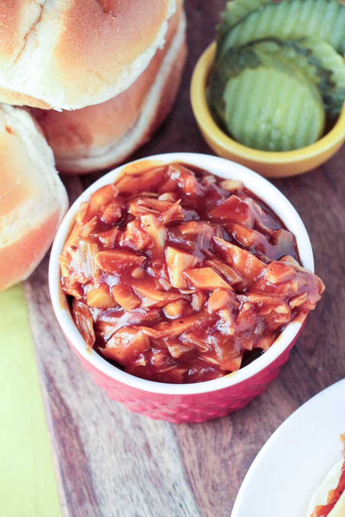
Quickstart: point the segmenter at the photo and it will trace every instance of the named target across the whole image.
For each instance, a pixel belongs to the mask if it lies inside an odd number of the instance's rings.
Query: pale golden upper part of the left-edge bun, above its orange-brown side
[[[0,104],[0,249],[67,208],[52,150],[33,118]],[[51,236],[53,238],[53,235]]]

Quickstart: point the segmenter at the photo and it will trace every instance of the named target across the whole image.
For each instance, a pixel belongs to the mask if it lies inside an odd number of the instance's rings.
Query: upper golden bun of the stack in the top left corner
[[[0,2],[0,101],[79,109],[127,89],[162,47],[176,0]]]

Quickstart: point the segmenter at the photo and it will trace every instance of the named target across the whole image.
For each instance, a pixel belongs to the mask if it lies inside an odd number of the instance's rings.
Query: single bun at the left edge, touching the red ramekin
[[[65,213],[65,187],[34,119],[0,104],[0,290],[27,278]]]

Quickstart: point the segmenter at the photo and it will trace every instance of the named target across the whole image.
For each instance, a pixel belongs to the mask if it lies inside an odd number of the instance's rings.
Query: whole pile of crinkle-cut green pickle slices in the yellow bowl
[[[256,149],[312,144],[341,111],[344,50],[338,0],[228,2],[207,89],[217,124]]]

